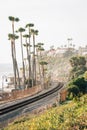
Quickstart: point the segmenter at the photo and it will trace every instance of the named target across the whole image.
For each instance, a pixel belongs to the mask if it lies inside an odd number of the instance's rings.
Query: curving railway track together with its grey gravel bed
[[[63,86],[63,83],[55,83],[53,88],[37,96],[0,106],[0,128],[3,128],[10,120],[20,117],[24,113],[29,113],[41,106],[49,104],[52,99],[56,98],[58,91]]]

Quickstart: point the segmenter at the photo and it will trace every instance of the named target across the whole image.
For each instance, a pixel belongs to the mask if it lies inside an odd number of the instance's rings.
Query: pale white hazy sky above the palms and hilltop
[[[8,33],[12,32],[9,16],[18,17],[15,30],[34,23],[39,33],[36,42],[44,43],[47,50],[72,43],[87,45],[87,0],[0,0],[0,63],[11,63],[11,44]],[[16,43],[17,60],[21,61],[20,41]]]

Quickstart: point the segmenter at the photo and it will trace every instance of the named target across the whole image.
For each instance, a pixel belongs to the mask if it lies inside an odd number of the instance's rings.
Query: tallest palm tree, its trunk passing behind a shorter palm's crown
[[[8,19],[12,22],[12,33],[14,35],[14,22],[18,22],[19,18],[15,18],[13,16],[9,16]],[[20,86],[20,78],[19,78],[18,64],[17,64],[17,60],[16,60],[16,49],[15,49],[15,39],[16,38],[17,37],[14,38],[14,42],[13,42],[13,55],[14,55],[13,67],[14,67],[14,70],[15,70],[14,77],[16,78],[16,72],[17,72],[18,79],[19,79],[19,86]]]

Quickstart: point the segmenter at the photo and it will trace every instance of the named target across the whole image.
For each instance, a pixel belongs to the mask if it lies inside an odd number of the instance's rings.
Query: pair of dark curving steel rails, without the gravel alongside
[[[35,96],[35,97],[31,98],[31,99],[25,99],[24,101],[20,101],[20,102],[14,103],[12,105],[5,106],[4,108],[0,108],[0,115],[4,115],[4,114],[12,112],[12,111],[14,111],[14,110],[16,110],[18,108],[21,108],[23,106],[26,106],[26,105],[31,104],[33,102],[36,102],[36,101],[38,101],[38,100],[40,100],[40,99],[42,99],[42,98],[44,98],[46,96],[51,95],[52,93],[58,91],[62,87],[63,87],[63,83],[58,83],[58,85],[55,88],[53,88],[52,90],[50,90],[50,91],[47,91],[47,92],[45,92],[43,94]]]

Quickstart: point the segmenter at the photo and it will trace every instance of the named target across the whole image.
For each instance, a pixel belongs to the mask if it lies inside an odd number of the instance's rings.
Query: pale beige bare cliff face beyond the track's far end
[[[69,64],[70,57],[51,55],[47,56],[48,73],[53,80],[67,81],[71,66]]]

